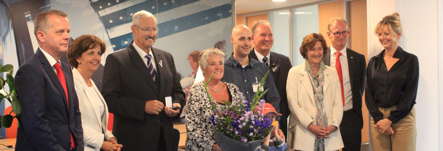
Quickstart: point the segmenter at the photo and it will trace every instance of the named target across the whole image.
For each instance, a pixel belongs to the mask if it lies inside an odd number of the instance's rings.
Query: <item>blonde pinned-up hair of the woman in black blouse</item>
[[[392,13],[391,15],[387,15],[381,19],[380,22],[375,26],[374,34],[377,34],[378,30],[381,30],[383,25],[388,25],[389,31],[394,34],[401,33],[401,23],[400,23],[400,14],[398,12]]]

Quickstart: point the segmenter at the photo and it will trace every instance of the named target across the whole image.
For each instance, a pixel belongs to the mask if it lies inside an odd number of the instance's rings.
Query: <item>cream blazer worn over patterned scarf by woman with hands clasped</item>
[[[288,148],[300,151],[313,151],[315,135],[307,130],[307,126],[314,120],[317,114],[315,106],[314,90],[307,71],[305,71],[306,61],[292,67],[289,70],[287,81],[288,106],[291,111],[288,127]],[[342,147],[342,135],[340,134],[340,123],[343,117],[343,102],[340,81],[337,71],[326,66],[323,71],[323,103],[326,111],[327,123],[334,125],[338,129],[325,139],[325,151],[334,151]]]

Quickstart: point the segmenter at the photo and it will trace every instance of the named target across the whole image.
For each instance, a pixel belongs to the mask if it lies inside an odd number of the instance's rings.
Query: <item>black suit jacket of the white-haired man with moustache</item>
[[[158,100],[166,106],[165,97],[172,96],[172,103],[180,103],[182,112],[185,94],[174,59],[171,53],[151,47],[157,69],[154,83],[132,43],[106,57],[101,93],[109,112],[114,113],[113,134],[124,151],[156,151],[163,125],[166,149],[172,151],[171,118],[164,111],[155,115],[145,113],[144,109],[148,100]],[[173,119],[179,118],[180,113]]]

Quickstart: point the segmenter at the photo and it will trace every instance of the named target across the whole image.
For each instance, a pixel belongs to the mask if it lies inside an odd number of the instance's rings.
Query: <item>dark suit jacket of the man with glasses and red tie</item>
[[[330,48],[327,49],[323,56],[323,63],[330,65]],[[363,128],[363,115],[361,113],[361,97],[365,90],[365,76],[366,76],[366,59],[365,56],[346,48],[348,58],[349,79],[351,83],[352,92],[352,109],[357,113],[361,120],[361,128]]]

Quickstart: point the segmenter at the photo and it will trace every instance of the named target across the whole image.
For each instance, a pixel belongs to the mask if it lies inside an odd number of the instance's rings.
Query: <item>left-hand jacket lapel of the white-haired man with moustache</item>
[[[137,53],[134,46],[132,46],[132,43],[128,47],[128,52],[132,63],[135,64],[136,68],[140,71],[140,73],[143,75],[144,79],[148,83],[149,87],[151,87],[157,97],[159,97],[159,91],[157,90],[157,86],[154,83],[154,80],[152,80],[151,73],[148,72],[148,67],[146,67],[146,64],[144,64],[144,61],[140,58],[139,53]]]

